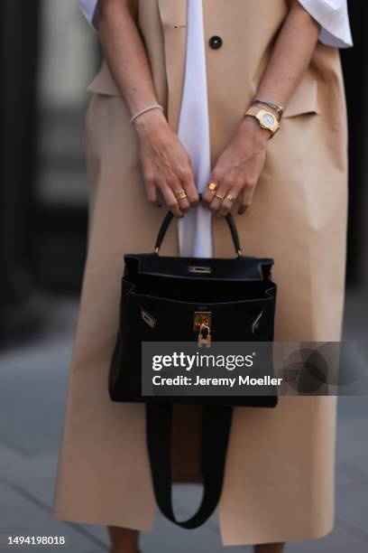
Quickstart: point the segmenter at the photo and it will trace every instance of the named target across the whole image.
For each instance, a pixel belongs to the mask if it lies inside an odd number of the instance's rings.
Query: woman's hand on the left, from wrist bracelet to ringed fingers
[[[134,121],[140,141],[143,176],[149,202],[160,206],[158,190],[176,217],[199,201],[190,157],[159,110],[147,111]],[[187,193],[178,200],[176,193]]]

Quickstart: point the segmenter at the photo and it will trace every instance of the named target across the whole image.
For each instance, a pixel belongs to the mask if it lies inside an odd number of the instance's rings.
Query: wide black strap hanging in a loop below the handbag
[[[153,489],[161,512],[181,528],[198,528],[215,511],[224,481],[227,444],[233,408],[204,406],[202,426],[201,472],[203,496],[198,511],[189,519],[176,519],[171,493],[172,405],[146,405],[147,445],[151,462]]]

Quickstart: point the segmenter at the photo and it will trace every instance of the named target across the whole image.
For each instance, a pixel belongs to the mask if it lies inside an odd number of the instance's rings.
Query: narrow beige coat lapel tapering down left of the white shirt
[[[187,46],[187,0],[158,0],[163,30],[168,80],[168,121],[173,131],[179,126]]]

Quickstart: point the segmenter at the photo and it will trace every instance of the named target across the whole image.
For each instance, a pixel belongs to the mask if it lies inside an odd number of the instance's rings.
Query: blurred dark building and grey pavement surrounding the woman
[[[349,13],[354,49],[342,51],[350,154],[344,337],[357,341],[368,331],[368,5],[351,1]],[[103,528],[51,518],[86,256],[86,88],[101,52],[75,0],[2,0],[0,26],[0,536],[67,535],[73,553],[102,551]],[[367,415],[367,398],[340,398],[336,529],[290,551],[368,550]],[[179,491],[183,512],[197,492]],[[143,545],[222,550],[216,518],[188,533],[158,517]]]

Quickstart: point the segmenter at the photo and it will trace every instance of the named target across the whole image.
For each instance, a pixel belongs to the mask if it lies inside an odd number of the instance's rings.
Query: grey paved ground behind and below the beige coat
[[[345,339],[366,340],[368,301],[349,293]],[[45,324],[0,353],[0,542],[7,535],[66,536],[72,553],[108,550],[106,529],[53,520],[51,505],[69,360],[78,305],[52,298]],[[336,525],[325,539],[293,543],[295,553],[366,553],[368,551],[368,398],[339,398]],[[198,503],[199,489],[178,486],[178,512]],[[4,547],[4,546],[3,546]],[[200,530],[178,530],[157,515],[153,532],[143,533],[143,553],[250,552],[222,548],[216,515]],[[53,548],[23,548],[45,551]],[[2,547],[0,546],[0,550]],[[4,550],[12,550],[5,546]]]

